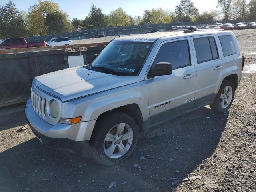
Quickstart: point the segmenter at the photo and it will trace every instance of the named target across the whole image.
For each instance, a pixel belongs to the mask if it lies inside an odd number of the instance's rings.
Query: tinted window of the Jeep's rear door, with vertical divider
[[[193,41],[198,63],[210,61],[219,57],[214,37],[197,38]]]

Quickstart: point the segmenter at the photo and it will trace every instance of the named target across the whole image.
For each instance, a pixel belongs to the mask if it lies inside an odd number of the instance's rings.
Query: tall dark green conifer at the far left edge
[[[15,4],[9,1],[0,8],[1,38],[26,36],[26,23]]]

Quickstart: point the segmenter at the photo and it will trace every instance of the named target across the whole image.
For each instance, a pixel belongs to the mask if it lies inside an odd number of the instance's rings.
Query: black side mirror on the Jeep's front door
[[[154,78],[155,76],[170,74],[172,74],[172,64],[167,62],[161,62],[151,66],[148,73],[148,79]]]

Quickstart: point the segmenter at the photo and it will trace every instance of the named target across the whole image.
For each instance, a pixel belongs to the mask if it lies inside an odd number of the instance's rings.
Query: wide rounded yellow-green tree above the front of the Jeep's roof
[[[172,17],[168,15],[169,12],[164,11],[162,8],[145,10],[143,14],[143,22],[149,23],[167,23],[172,22]]]

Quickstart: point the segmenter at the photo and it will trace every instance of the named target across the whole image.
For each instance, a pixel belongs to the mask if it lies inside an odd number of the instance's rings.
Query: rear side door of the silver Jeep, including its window
[[[197,70],[195,106],[202,106],[214,100],[218,78],[225,65],[219,55],[217,36],[194,36],[191,41]]]

